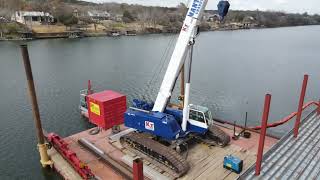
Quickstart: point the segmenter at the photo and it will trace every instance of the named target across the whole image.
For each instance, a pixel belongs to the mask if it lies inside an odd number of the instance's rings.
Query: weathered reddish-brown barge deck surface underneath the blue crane
[[[230,136],[233,135],[232,126],[221,125],[220,128]],[[106,131],[101,130],[100,133],[96,135],[90,135],[90,129],[66,137],[64,140],[69,144],[69,149],[75,152],[79,159],[88,165],[97,179],[120,180],[125,179],[125,177],[121,176],[121,173],[81,146],[78,141],[82,138],[88,140],[123,167],[132,169],[132,161],[136,159],[137,156],[122,148],[118,141],[121,134],[123,135],[130,132],[130,129],[121,126],[121,130],[123,131],[116,135],[112,134],[112,130],[110,129]],[[236,130],[240,132],[241,129],[237,128]],[[251,132],[250,139],[240,138],[238,140],[232,140],[230,145],[225,148],[208,146],[206,144],[194,145],[189,149],[188,153],[185,154],[191,168],[185,176],[179,179],[236,179],[239,177],[238,174],[223,168],[223,157],[226,155],[235,155],[244,160],[244,169],[248,169],[256,160],[258,141],[259,133]],[[277,142],[278,139],[276,138],[266,137],[265,150],[270,149]],[[54,161],[61,163],[60,161],[63,161],[63,159]],[[65,177],[65,175],[70,173],[70,170],[67,168],[61,168],[59,173],[64,176],[65,179],[73,179],[70,178],[70,175]],[[174,179],[173,176],[147,161],[144,161],[144,177],[145,179]]]

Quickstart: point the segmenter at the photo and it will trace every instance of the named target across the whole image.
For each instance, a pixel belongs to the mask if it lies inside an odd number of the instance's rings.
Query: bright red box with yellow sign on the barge
[[[127,109],[126,96],[107,90],[91,94],[87,97],[89,120],[93,124],[109,129],[123,124]]]

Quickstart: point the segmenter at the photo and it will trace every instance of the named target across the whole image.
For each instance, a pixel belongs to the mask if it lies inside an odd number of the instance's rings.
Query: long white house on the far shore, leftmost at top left
[[[12,21],[16,21],[22,24],[29,23],[52,23],[54,17],[46,12],[39,11],[16,11],[12,17]]]

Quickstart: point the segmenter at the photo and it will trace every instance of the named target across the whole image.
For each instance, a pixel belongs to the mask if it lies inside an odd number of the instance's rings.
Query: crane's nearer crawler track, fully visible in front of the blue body
[[[129,151],[157,165],[175,178],[189,170],[188,162],[176,151],[154,141],[146,134],[132,132],[120,138],[120,143]]]

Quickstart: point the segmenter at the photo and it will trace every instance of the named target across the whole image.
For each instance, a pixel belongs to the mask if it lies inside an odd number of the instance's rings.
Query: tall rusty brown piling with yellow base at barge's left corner
[[[47,145],[45,144],[45,138],[42,131],[39,106],[38,106],[36,90],[33,82],[33,75],[32,75],[32,69],[30,64],[28,47],[27,45],[21,45],[20,48],[21,48],[24,68],[26,71],[27,81],[28,81],[28,92],[29,92],[29,97],[32,104],[32,113],[34,117],[34,123],[36,125],[37,138],[38,138],[38,150],[40,153],[40,162],[42,167],[48,167],[48,166],[52,167],[53,163],[50,160],[49,155],[47,153],[48,148],[47,148]]]

